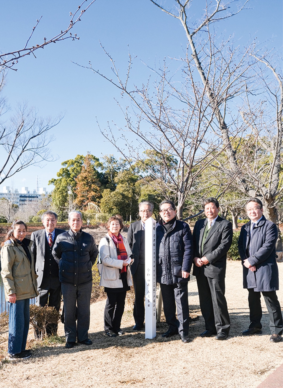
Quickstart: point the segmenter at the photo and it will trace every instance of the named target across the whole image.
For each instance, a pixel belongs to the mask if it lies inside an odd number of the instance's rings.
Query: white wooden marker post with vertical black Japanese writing
[[[145,338],[156,337],[156,221],[148,218],[145,222]]]

